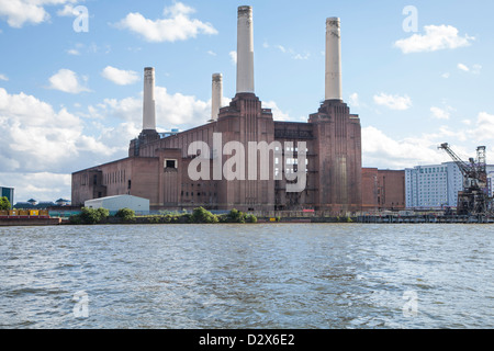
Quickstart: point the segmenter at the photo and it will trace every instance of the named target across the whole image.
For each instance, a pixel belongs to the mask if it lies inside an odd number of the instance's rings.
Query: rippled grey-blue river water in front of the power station
[[[489,225],[0,227],[0,328],[494,328]]]

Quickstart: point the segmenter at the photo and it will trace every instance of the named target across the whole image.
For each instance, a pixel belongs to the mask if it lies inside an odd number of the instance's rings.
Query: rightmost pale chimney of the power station
[[[326,100],[343,100],[341,30],[338,18],[326,20]]]

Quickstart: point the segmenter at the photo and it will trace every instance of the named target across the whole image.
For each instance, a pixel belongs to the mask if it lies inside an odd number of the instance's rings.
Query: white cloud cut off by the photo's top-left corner
[[[46,5],[75,2],[77,0],[0,0],[0,18],[7,18],[11,27],[20,29],[25,23],[40,24],[48,21]]]

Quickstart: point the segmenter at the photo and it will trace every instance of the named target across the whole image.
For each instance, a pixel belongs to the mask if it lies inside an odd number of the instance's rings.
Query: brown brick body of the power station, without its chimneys
[[[214,134],[221,135],[221,149]],[[193,141],[204,141],[210,150],[211,176],[214,161],[224,165],[232,156],[222,150],[228,141],[274,145],[271,150],[269,180],[198,180],[189,178],[188,155]],[[293,143],[291,150],[285,143]],[[299,143],[306,144],[306,184],[301,192],[288,192],[282,162],[287,156],[297,156]],[[276,161],[278,163],[276,163]],[[304,165],[296,165],[303,168]],[[248,165],[245,167],[248,173]],[[274,169],[273,169],[274,168]],[[303,169],[302,169],[303,170]],[[276,180],[274,171],[281,172]],[[86,200],[130,194],[149,199],[153,210],[181,210],[204,206],[210,210],[300,211],[315,210],[334,214],[357,213],[361,210],[362,169],[360,120],[339,100],[324,102],[307,123],[274,122],[271,110],[261,107],[252,93],[237,94],[231,104],[220,110],[218,120],[165,138],[144,131],[131,141],[128,158],[97,166],[72,174],[72,204]]]

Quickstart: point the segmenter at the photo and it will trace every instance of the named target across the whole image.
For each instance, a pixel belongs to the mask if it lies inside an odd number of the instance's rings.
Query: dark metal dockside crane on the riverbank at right
[[[444,149],[452,158],[454,163],[463,174],[463,191],[458,193],[458,215],[489,216],[493,214],[493,199],[487,190],[487,171],[485,146],[476,148],[476,160],[463,161],[449,147],[449,144],[441,144],[439,149]]]

